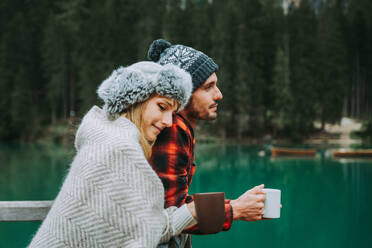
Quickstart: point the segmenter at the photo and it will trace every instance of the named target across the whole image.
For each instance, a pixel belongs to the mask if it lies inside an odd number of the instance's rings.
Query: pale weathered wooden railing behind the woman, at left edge
[[[52,204],[53,201],[0,201],[0,222],[41,221]]]

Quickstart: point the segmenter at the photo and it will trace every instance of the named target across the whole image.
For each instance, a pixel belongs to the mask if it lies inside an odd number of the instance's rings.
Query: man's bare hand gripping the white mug
[[[234,220],[256,221],[262,219],[262,212],[264,209],[265,192],[262,190],[264,185],[256,186],[238,199],[230,202]]]

